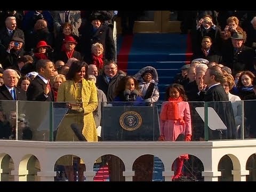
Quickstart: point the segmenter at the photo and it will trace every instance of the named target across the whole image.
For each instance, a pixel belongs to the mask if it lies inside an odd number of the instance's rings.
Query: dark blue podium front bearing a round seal
[[[107,106],[102,109],[103,141],[156,141],[159,137],[157,106]]]

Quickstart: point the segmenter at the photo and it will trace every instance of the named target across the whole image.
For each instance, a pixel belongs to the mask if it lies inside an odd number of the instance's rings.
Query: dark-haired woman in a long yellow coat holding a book
[[[67,102],[70,110],[58,128],[56,141],[78,141],[70,127],[73,123],[82,130],[87,141],[98,141],[92,113],[98,106],[97,88],[92,81],[84,78],[87,69],[86,63],[74,61],[66,76],[67,81],[59,87],[57,102]],[[74,181],[73,155],[61,157],[57,164],[64,165],[68,180]],[[78,180],[83,181],[84,170],[85,166],[81,161],[78,166]]]

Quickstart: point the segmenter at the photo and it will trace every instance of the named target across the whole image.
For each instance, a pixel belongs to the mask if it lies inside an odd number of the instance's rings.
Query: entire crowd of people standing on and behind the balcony
[[[154,106],[158,102],[156,68],[144,67],[133,76],[118,70],[113,26],[105,25],[113,14],[108,11],[90,14],[28,11],[23,12],[21,20],[19,13],[6,15],[5,22],[1,23],[0,100],[50,101],[67,108],[55,141],[79,140],[70,125],[86,141],[99,141],[97,128],[102,125],[101,112],[107,103]],[[255,22],[253,18],[251,27],[254,32]],[[243,111],[238,101],[256,98],[255,33],[243,30],[234,16],[227,18],[226,27],[221,31],[209,14],[201,15],[194,29],[191,31],[193,60],[182,66],[181,73],[166,87],[165,101],[159,113],[158,140],[239,139]],[[220,133],[209,129],[205,135],[203,119],[196,112],[198,107],[204,107],[203,101],[209,102],[208,106],[220,116],[226,130]],[[245,138],[255,138],[249,105],[251,103],[244,106]],[[0,138],[15,139],[15,125],[9,121],[4,109],[2,106],[0,110]],[[14,106],[10,111],[10,119],[15,119]],[[22,139],[33,139],[26,119],[19,123],[25,130]],[[114,164],[118,163],[111,158],[108,159],[110,181],[115,180]],[[187,154],[178,158],[173,179],[181,177],[183,160],[188,158]],[[152,158],[147,160],[149,164],[153,162]],[[58,160],[58,164],[65,167],[69,181],[74,180],[73,161],[72,155]],[[78,161],[78,180],[82,181],[85,167],[82,159]],[[137,172],[135,180],[141,179],[140,173]],[[150,180],[151,176],[149,174],[144,179]]]

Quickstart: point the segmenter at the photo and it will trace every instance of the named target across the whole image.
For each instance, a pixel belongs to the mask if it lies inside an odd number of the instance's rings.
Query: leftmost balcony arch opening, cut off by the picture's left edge
[[[14,181],[14,175],[11,171],[14,170],[13,159],[8,154],[0,154],[0,181]]]

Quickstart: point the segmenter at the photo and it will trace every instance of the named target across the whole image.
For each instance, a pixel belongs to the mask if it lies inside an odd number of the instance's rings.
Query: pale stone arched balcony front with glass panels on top
[[[93,181],[95,178],[97,170],[94,168],[100,157],[101,163],[105,162],[110,167],[109,156],[112,159],[120,158],[115,171],[121,177],[117,180],[138,180],[137,175],[145,171],[138,166],[138,162],[145,161],[143,166],[149,164],[155,169],[158,158],[161,164],[159,177],[171,181],[172,164],[182,154],[189,154],[187,165],[197,164],[184,170],[187,175],[189,173],[189,179],[227,180],[223,175],[227,173],[227,167],[230,167],[228,180],[254,180],[256,140],[250,139],[255,137],[254,115],[251,113],[254,103],[239,101],[236,106],[241,106],[237,107],[235,114],[235,110],[231,110],[233,114],[227,113],[232,107],[229,102],[189,103],[193,142],[157,141],[162,103],[151,106],[134,106],[134,103],[129,102],[100,103],[101,109],[98,109],[101,110],[102,126],[98,127],[101,129],[98,135],[103,141],[73,142],[76,137],[71,137],[66,142],[59,142],[60,139],[57,142],[55,136],[57,134],[58,138],[58,131],[63,126],[73,136],[75,133],[71,124],[75,125],[78,132],[81,131],[81,119],[77,116],[83,111],[79,107],[74,108],[74,112],[67,108],[67,103],[1,101],[6,117],[5,129],[8,127],[7,122],[11,129],[10,136],[0,140],[1,181],[56,180],[57,162],[66,155],[83,159],[86,167],[85,181]],[[79,103],[80,107],[86,105]],[[73,121],[70,122],[70,118]],[[232,119],[236,120],[233,122]],[[3,135],[3,129],[0,133]],[[150,161],[153,161],[153,165]]]

